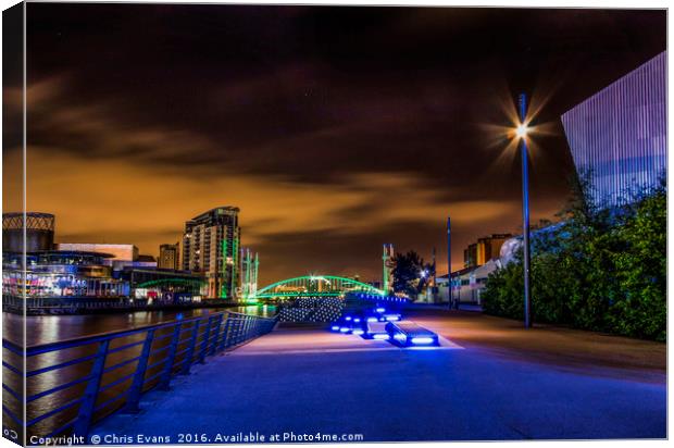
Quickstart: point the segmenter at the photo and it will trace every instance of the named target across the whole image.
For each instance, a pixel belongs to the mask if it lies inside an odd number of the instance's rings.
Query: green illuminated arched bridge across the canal
[[[258,289],[250,298],[339,297],[352,291],[384,296],[382,289],[353,278],[335,275],[305,275],[273,283]]]

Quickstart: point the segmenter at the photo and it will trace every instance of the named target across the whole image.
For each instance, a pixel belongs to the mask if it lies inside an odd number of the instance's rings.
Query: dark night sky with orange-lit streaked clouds
[[[378,279],[384,242],[436,246],[446,273],[448,214],[453,269],[477,237],[519,232],[503,126],[522,90],[533,219],[552,219],[573,173],[560,115],[665,50],[666,15],[29,3],[27,35],[28,210],[57,215],[57,241],[157,254],[237,206],[266,284]],[[4,211],[20,155],[4,148]]]

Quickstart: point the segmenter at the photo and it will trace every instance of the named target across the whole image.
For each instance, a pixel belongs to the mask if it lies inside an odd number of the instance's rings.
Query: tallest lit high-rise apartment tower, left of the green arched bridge
[[[232,299],[239,286],[239,209],[219,207],[187,221],[183,235],[183,270],[208,281],[208,296]]]

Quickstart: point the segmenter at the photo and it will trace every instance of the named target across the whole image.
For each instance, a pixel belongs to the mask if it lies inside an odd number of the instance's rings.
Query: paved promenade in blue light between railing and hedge
[[[171,443],[179,434],[222,443],[240,433],[265,441],[275,434],[278,441],[302,441],[298,435],[316,433],[360,434],[364,441],[666,436],[664,372],[660,361],[634,354],[635,347],[650,348],[659,360],[663,345],[537,328],[538,339],[563,343],[557,358],[540,360],[545,344],[527,351],[510,340],[522,337],[514,321],[510,328],[511,321],[480,321],[474,313],[414,311],[410,318],[445,336],[444,347],[399,349],[285,327],[196,366],[171,393],[149,393],[139,414],[114,415],[92,434],[170,436]],[[566,353],[579,335],[599,362]],[[627,352],[622,364],[614,354],[621,350]]]

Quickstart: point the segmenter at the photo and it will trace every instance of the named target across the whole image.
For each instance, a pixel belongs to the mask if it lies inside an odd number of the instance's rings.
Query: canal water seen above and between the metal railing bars
[[[26,318],[26,338],[27,345],[39,345],[47,343],[54,343],[64,339],[76,338],[80,336],[95,335],[100,333],[108,333],[114,331],[123,331],[123,329],[133,329],[137,327],[142,327],[146,325],[175,321],[178,314],[183,314],[184,319],[189,318],[198,318],[203,316],[205,319],[207,315],[217,313],[221,311],[229,311],[229,312],[238,312],[246,313],[252,315],[259,315],[264,318],[271,318],[276,313],[274,307],[267,306],[251,306],[251,307],[232,307],[232,308],[222,308],[222,309],[195,309],[195,310],[182,310],[182,311],[136,311],[130,313],[115,313],[115,314],[97,314],[97,315],[41,315],[41,316],[27,316]],[[23,334],[23,320],[24,318],[21,315],[15,315],[11,313],[2,313],[3,320],[3,338],[20,343],[22,340]],[[188,324],[189,325],[189,324]],[[171,328],[165,331],[160,331],[158,334],[164,334],[166,332],[172,332]],[[188,334],[189,332],[184,332]],[[116,346],[122,346],[124,344],[134,343],[137,340],[142,340],[145,334],[136,334],[132,336],[125,336],[124,338],[115,339]],[[185,339],[182,336],[183,339]],[[158,337],[159,339],[159,337]],[[159,345],[166,346],[170,339],[164,339],[159,343]],[[187,341],[180,343],[178,348],[180,351],[184,351],[184,347],[186,347]],[[43,369],[51,365],[57,365],[63,362],[67,362],[72,359],[77,359],[86,356],[92,356],[96,353],[97,344],[83,346],[79,348],[71,348],[66,350],[61,350],[57,352],[48,352],[32,357],[27,361],[28,371],[35,371],[37,369]],[[154,347],[154,346],[153,346]],[[199,346],[201,347],[201,346]],[[113,346],[111,345],[111,349]],[[107,373],[103,374],[101,379],[101,386],[118,385],[107,388],[98,395],[97,403],[101,406],[100,411],[96,411],[96,415],[98,418],[109,414],[110,412],[118,409],[123,403],[124,396],[120,396],[124,390],[127,390],[130,385],[130,378],[124,379],[136,370],[136,363],[129,364],[120,364],[121,368],[115,368],[114,370],[109,368],[111,365],[118,364],[121,361],[125,359],[130,359],[133,357],[137,357],[140,354],[141,346],[135,346],[129,349],[125,349],[123,351],[116,352],[114,354],[110,354],[108,357],[108,362],[105,363]],[[162,351],[161,353],[150,357],[149,363],[154,363],[157,360],[161,360],[162,357],[166,356],[166,351]],[[176,356],[176,365],[179,363],[186,354]],[[7,358],[7,359],[5,359]],[[8,352],[8,349],[3,349],[3,361],[9,362],[15,368],[20,368],[22,364],[21,357],[16,357],[13,353]],[[161,364],[158,365],[157,371],[162,368]],[[41,391],[52,389],[59,385],[70,384],[78,378],[86,377],[86,375],[91,373],[92,361],[77,363],[65,369],[59,369],[54,371],[49,371],[46,373],[41,373],[35,376],[29,376],[26,382],[26,391],[27,396],[36,397],[36,394]],[[21,375],[17,375],[13,372],[9,372],[7,369],[3,369],[3,384],[10,386],[13,390],[20,391],[23,388],[23,384],[21,381]],[[148,375],[151,372],[148,370]],[[147,376],[146,376],[147,377]],[[30,401],[27,406],[27,421],[30,422],[33,419],[38,418],[39,415],[48,415],[50,411],[59,409],[65,406],[68,402],[73,402],[73,400],[79,399],[83,397],[85,393],[86,382],[75,384],[72,387],[64,388],[61,391],[46,395],[41,398],[37,398]],[[113,400],[114,397],[120,396],[118,401],[110,401]],[[15,415],[23,414],[23,406],[21,406],[21,401],[17,398],[10,396],[10,394],[2,394],[2,401],[5,409],[10,410]],[[109,405],[103,405],[109,402]],[[71,408],[65,409],[62,412],[54,414],[45,420],[40,420],[33,424],[28,430],[28,435],[47,435],[53,431],[58,431],[57,428],[62,427],[67,422],[72,422],[77,413],[77,406],[73,406]],[[3,412],[4,413],[4,412]],[[14,426],[14,425],[12,425]],[[18,427],[16,427],[18,432]]]

